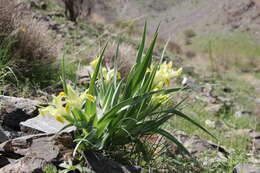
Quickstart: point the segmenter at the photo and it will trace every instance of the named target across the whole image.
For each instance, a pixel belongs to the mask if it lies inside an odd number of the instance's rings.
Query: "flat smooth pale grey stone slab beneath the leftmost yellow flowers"
[[[67,123],[61,123],[57,121],[53,116],[51,115],[38,115],[35,118],[29,119],[27,121],[21,122],[21,130],[25,133],[57,133],[59,132],[62,128],[67,126]],[[75,130],[75,127],[69,127],[63,132],[71,132]]]

